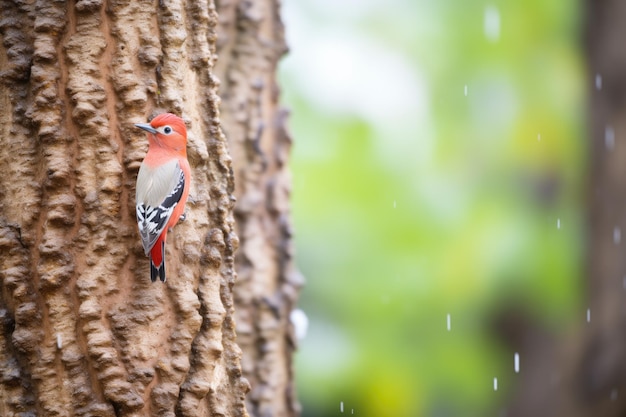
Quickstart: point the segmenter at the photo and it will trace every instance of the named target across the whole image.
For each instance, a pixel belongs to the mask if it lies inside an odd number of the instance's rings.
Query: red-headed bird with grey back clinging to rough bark
[[[172,113],[135,126],[148,136],[148,153],[137,174],[137,225],[145,254],[150,256],[150,280],[165,282],[167,232],[184,220],[191,184],[187,129],[183,119]]]

